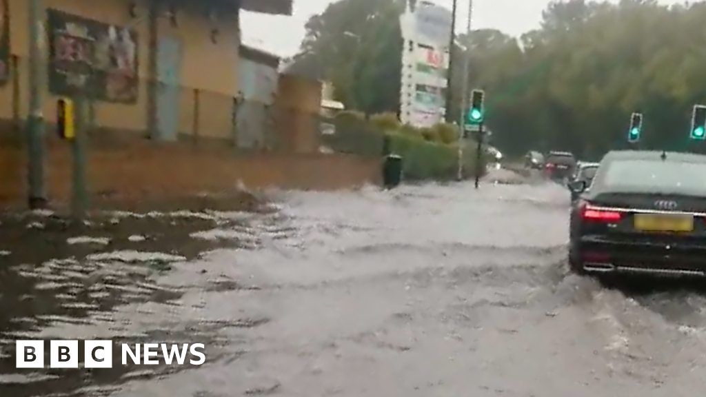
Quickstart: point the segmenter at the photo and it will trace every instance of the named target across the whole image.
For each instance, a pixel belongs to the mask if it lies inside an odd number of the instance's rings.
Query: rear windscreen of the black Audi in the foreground
[[[601,179],[606,191],[706,196],[706,163],[614,160]]]

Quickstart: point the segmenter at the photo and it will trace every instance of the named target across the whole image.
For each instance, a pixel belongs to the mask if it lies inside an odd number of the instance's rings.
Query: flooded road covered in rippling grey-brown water
[[[0,396],[700,391],[706,294],[568,274],[568,192],[510,182],[277,192],[263,213],[153,214],[147,225],[184,229],[169,249],[147,226],[120,242],[112,229],[72,235],[66,245],[92,248],[39,263],[0,242]],[[109,224],[134,216],[123,215]],[[14,369],[18,338],[198,342],[207,360]]]

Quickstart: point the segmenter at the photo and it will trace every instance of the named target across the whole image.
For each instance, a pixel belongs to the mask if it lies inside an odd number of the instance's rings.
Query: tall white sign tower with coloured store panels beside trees
[[[433,126],[445,115],[453,16],[431,1],[408,1],[400,18],[404,41],[400,120],[416,127]]]

